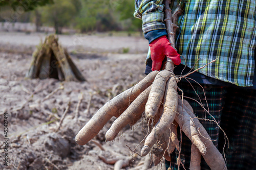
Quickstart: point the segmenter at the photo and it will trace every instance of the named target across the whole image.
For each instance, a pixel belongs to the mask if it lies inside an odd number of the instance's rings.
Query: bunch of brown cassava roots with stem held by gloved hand
[[[165,23],[168,39],[173,47],[176,21],[181,14],[180,6],[171,13],[169,1],[165,1]],[[80,145],[90,141],[113,116],[118,117],[106,132],[106,140],[114,140],[123,127],[134,125],[145,111],[148,133],[144,138],[141,156],[152,152],[157,165],[163,157],[170,161],[176,148],[180,151],[177,126],[191,140],[190,169],[200,169],[201,155],[211,169],[227,169],[226,163],[212,143],[210,136],[193,113],[189,103],[177,93],[178,78],[174,75],[174,63],[167,59],[165,69],[152,71],[132,88],[107,102],[76,135]],[[153,127],[151,128],[151,125]],[[180,166],[180,157],[176,160]]]

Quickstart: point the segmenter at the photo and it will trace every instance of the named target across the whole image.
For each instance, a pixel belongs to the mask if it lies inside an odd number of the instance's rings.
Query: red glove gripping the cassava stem
[[[180,55],[176,50],[170,46],[170,43],[166,36],[161,36],[150,43],[152,71],[160,70],[162,62],[167,56],[172,59],[175,65],[180,64]]]

